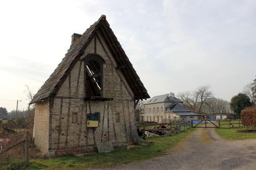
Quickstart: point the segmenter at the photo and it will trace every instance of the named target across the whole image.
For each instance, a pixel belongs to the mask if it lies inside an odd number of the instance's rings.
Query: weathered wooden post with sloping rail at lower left
[[[18,140],[17,142],[11,144],[10,146],[6,147],[6,148],[1,148],[0,150],[0,155],[3,154],[4,152],[10,150],[11,148],[17,146],[20,143],[24,143],[24,161],[28,162],[28,132],[26,132],[26,134],[24,135],[24,137],[20,140]]]

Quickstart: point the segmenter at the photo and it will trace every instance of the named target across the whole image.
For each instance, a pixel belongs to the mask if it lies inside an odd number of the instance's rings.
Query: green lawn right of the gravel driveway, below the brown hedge
[[[243,129],[243,127],[217,128],[216,132],[220,137],[225,139],[237,139],[237,140],[256,139],[256,133],[236,133],[236,129]]]

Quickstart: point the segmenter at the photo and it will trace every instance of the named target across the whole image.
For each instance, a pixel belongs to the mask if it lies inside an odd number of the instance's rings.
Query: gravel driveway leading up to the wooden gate
[[[213,128],[199,128],[162,157],[105,169],[256,170],[256,139],[226,140]]]

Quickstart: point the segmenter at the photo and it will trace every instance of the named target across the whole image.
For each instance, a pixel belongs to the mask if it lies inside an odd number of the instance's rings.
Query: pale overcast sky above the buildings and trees
[[[9,0],[0,3],[0,107],[19,99],[26,109],[24,85],[36,92],[71,35],[102,14],[151,97],[211,84],[229,101],[255,79],[255,0]]]

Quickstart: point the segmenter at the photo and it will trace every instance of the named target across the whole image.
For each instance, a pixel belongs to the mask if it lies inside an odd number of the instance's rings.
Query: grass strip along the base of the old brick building
[[[143,146],[141,148],[126,150],[126,148],[116,149],[110,153],[85,154],[84,156],[73,156],[67,154],[58,158],[47,160],[30,160],[24,163],[21,160],[12,160],[10,162],[0,162],[1,170],[15,169],[86,169],[113,167],[120,164],[139,162],[150,158],[162,156],[164,151],[183,141],[194,131],[191,129],[182,133],[173,134],[164,137],[146,138],[147,142],[154,142],[153,145]],[[144,141],[142,139],[142,141]]]

